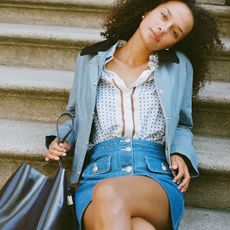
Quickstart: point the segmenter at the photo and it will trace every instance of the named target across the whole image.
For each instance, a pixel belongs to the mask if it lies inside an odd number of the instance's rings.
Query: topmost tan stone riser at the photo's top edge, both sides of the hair
[[[0,22],[102,28],[103,19],[114,2],[114,0],[1,0]],[[229,31],[230,10],[227,6],[223,6],[225,0],[198,2],[205,3],[202,6],[211,10],[217,16],[218,22],[224,24],[222,33],[226,35]]]

